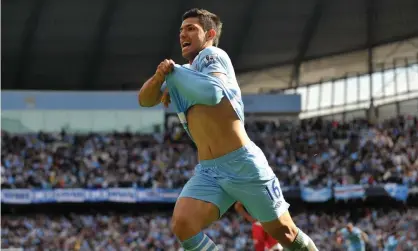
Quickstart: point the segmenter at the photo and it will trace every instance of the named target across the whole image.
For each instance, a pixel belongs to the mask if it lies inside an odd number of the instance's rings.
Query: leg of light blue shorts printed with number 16
[[[225,180],[224,190],[240,201],[260,222],[277,219],[289,204],[284,200],[279,180],[259,147],[248,146],[247,151],[218,168]]]

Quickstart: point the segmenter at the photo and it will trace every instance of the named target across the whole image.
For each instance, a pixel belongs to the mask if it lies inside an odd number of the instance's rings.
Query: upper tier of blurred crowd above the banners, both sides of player
[[[316,119],[246,127],[282,186],[418,183],[416,117],[374,125]],[[179,188],[197,162],[177,124],[150,135],[2,131],[1,144],[2,188]]]

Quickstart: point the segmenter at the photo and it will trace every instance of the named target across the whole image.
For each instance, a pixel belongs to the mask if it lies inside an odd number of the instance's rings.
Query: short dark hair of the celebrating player
[[[202,25],[204,31],[208,31],[210,29],[214,29],[216,31],[216,37],[213,39],[213,45],[218,46],[219,38],[222,33],[221,19],[212,12],[198,8],[186,11],[183,14],[183,21],[191,17],[197,17],[199,19],[200,25]]]

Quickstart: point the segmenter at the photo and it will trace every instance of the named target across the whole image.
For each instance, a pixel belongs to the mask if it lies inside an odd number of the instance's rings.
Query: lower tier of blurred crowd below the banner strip
[[[336,231],[353,220],[341,215],[300,214],[297,225],[315,241],[319,250],[345,250],[337,244]],[[401,250],[418,246],[418,211],[365,210],[356,226],[369,236],[369,250],[383,250],[389,236],[399,235]],[[170,217],[152,215],[2,216],[2,248],[35,250],[178,251],[182,250],[169,228]],[[237,214],[228,214],[205,230],[219,250],[253,250],[251,225]],[[416,250],[416,249],[415,249]]]

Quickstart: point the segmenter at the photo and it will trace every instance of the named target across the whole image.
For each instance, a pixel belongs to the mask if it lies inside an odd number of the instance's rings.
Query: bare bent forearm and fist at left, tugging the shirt
[[[165,76],[173,70],[174,62],[164,60],[158,65],[157,70],[150,79],[141,87],[138,93],[138,103],[143,107],[152,107],[161,102],[163,92],[161,91]]]

